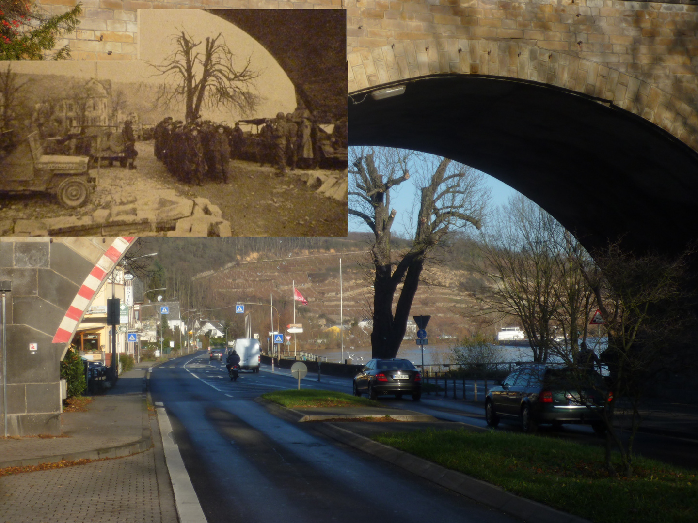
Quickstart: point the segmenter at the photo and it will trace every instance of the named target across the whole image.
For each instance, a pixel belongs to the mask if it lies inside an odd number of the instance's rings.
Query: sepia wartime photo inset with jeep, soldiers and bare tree
[[[346,236],[343,10],[140,10],[137,61],[0,62],[0,235]]]

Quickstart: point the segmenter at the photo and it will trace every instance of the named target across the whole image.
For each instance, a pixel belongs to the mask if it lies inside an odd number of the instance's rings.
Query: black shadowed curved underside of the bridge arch
[[[698,236],[698,154],[632,112],[546,84],[433,75],[405,93],[348,100],[351,145],[415,149],[504,181],[587,249],[676,252]]]

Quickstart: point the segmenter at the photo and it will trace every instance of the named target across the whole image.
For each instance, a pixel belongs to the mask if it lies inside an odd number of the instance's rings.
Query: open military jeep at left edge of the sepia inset
[[[87,203],[97,178],[86,156],[45,155],[32,132],[0,160],[0,192],[50,192],[68,209]]]

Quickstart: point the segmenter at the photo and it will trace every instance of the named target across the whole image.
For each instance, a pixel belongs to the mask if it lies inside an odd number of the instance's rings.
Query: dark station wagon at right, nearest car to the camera
[[[586,423],[602,434],[607,399],[603,378],[593,370],[526,363],[490,389],[484,411],[490,427],[506,419],[521,423],[523,432],[535,432],[539,423]]]

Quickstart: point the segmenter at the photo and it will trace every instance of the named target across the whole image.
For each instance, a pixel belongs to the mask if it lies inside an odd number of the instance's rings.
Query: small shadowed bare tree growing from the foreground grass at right
[[[595,267],[583,270],[606,321],[608,347],[601,356],[611,374],[607,380],[610,401],[603,411],[606,466],[611,473],[611,446],[615,445],[621,454],[622,473],[632,475],[632,446],[641,423],[639,405],[647,393],[648,381],[671,365],[674,342],[691,325],[690,308],[686,306],[690,253],[675,258],[634,255],[624,251],[618,241],[594,252]],[[630,416],[627,442],[614,424],[620,409]]]

